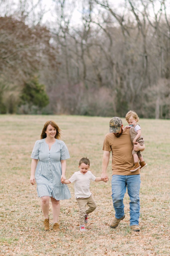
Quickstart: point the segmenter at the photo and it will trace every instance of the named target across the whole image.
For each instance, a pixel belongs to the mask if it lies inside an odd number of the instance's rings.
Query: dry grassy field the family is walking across
[[[79,212],[73,184],[71,199],[60,201],[60,232],[43,230],[43,214],[36,186],[30,184],[31,152],[47,120],[62,129],[70,159],[66,178],[77,171],[79,159],[88,156],[90,170],[101,175],[102,144],[109,132],[111,118],[84,116],[0,115],[1,183],[0,183],[0,255],[169,255],[169,151],[170,120],[139,120],[148,166],[141,172],[141,232],[129,228],[129,197],[124,197],[126,217],[116,229],[109,223],[114,216],[111,199],[111,157],[109,182],[91,182],[90,191],[97,208],[90,214],[87,231],[79,232]],[[126,121],[123,118],[123,124]]]

